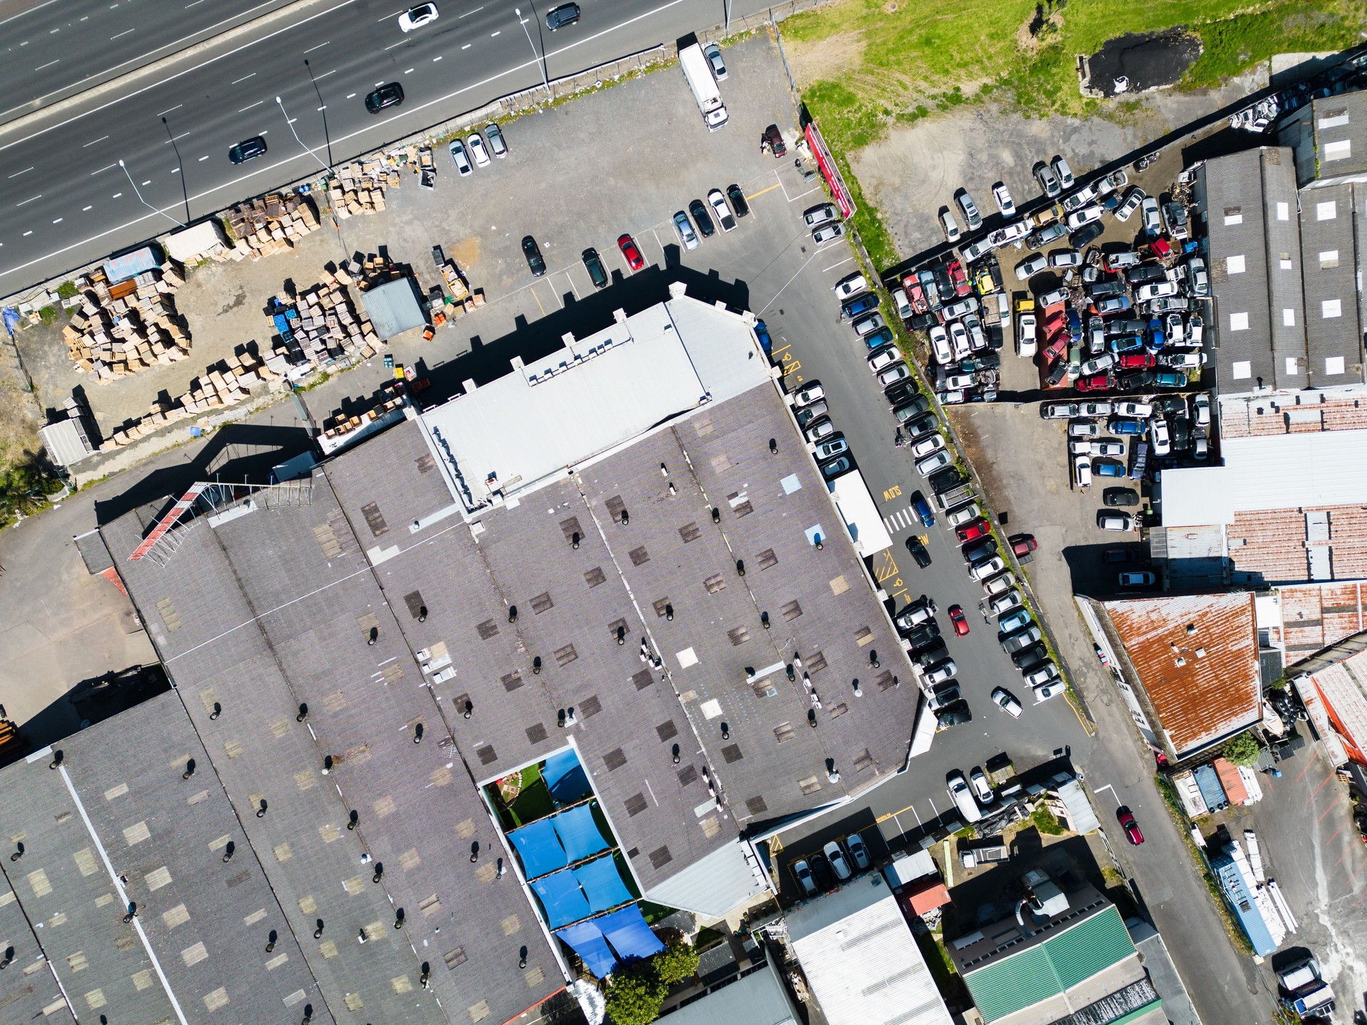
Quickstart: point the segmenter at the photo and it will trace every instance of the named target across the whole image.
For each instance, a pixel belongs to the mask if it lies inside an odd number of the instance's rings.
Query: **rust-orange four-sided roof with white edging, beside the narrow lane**
[[[1178,754],[1259,720],[1251,593],[1129,599],[1102,608]]]

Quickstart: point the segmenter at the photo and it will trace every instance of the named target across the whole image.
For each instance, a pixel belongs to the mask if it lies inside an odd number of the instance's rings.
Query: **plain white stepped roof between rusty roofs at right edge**
[[[1236,512],[1367,504],[1367,430],[1225,441],[1225,465],[1163,473],[1163,526],[1232,523]]]

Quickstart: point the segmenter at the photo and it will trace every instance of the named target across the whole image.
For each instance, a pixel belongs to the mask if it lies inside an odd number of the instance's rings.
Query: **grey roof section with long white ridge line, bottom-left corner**
[[[0,974],[5,1020],[60,1002],[55,974],[82,1021],[294,1021],[309,1003],[314,1022],[332,1021],[175,693],[59,750],[56,769],[40,753],[0,774],[0,821],[23,845],[0,862],[0,928],[16,947]],[[27,999],[40,1011],[16,1014]]]

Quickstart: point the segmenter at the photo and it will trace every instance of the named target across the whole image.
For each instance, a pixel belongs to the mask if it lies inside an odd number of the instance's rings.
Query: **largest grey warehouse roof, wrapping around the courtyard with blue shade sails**
[[[305,491],[182,523],[164,564],[127,558],[160,506],[103,534],[334,1017],[560,988],[477,782],[573,743],[644,891],[705,862],[734,897],[742,830],[906,758],[909,666],[770,380],[469,522],[420,421]]]

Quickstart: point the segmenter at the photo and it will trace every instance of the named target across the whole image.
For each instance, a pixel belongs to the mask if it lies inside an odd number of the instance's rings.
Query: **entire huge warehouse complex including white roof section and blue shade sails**
[[[766,894],[750,840],[901,769],[920,694],[752,324],[675,286],[85,538],[175,689],[4,771],[0,1006],[506,1022],[648,955],[640,898]]]

